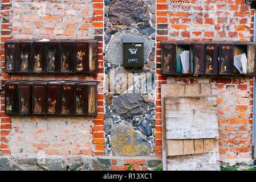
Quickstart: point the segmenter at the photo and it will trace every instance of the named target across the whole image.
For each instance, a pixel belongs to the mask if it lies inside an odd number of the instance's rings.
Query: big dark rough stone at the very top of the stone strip
[[[142,1],[115,0],[109,3],[109,21],[112,24],[129,25],[149,20],[147,6]]]

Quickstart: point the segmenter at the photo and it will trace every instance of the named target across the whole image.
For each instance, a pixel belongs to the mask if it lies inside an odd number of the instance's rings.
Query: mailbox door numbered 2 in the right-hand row
[[[205,75],[218,75],[218,43],[205,43]]]

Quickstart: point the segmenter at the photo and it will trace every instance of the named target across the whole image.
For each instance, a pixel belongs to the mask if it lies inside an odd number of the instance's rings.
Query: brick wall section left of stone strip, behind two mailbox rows
[[[1,93],[1,154],[44,152],[48,155],[103,155],[103,0],[31,2],[2,1],[1,63],[3,83],[17,80],[97,80],[98,115],[96,117],[48,117],[5,115]],[[97,75],[6,74],[4,42],[6,39],[81,39],[99,40]],[[65,120],[65,121],[63,121]],[[66,125],[66,126],[65,126]],[[23,148],[23,149],[21,149]],[[42,154],[42,153],[41,153]]]

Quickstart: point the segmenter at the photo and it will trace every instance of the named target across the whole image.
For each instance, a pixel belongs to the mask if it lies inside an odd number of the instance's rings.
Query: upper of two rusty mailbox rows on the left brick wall
[[[97,73],[97,40],[6,40],[6,73]]]

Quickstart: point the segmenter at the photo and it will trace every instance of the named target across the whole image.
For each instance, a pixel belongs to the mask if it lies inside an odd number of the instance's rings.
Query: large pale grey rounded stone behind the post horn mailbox
[[[132,38],[143,38],[144,40],[144,63],[147,63],[147,57],[151,51],[154,42],[145,38],[145,36],[140,36],[138,34],[133,34],[129,31],[122,31],[119,34],[116,34],[112,40],[109,42],[108,51],[107,51],[107,61],[112,65],[123,65],[123,38],[132,37]]]

